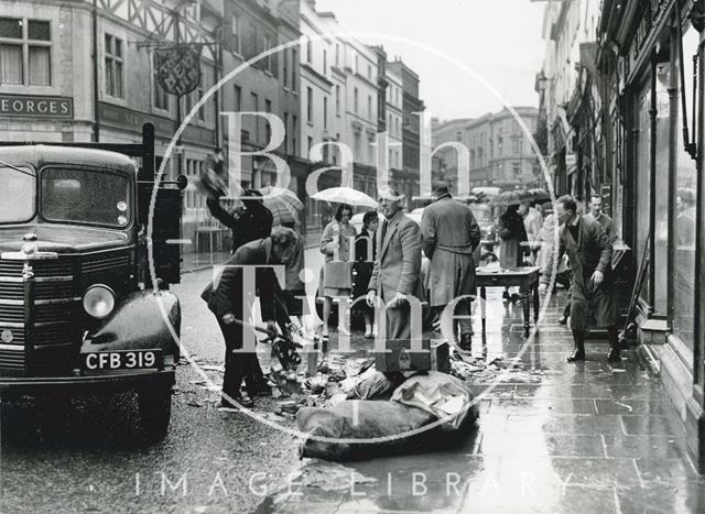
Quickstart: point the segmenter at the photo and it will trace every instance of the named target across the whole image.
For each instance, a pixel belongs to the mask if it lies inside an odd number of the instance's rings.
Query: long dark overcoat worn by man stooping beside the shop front
[[[615,325],[619,310],[614,291],[612,243],[607,232],[594,218],[581,216],[577,241],[565,225],[560,233],[558,259],[566,253],[573,270],[571,329]],[[598,286],[590,280],[595,271],[604,274]]]

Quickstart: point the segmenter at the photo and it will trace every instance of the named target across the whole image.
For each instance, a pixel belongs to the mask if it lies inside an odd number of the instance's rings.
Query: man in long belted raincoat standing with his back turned
[[[429,305],[441,316],[446,305],[458,297],[475,296],[475,249],[480,243],[480,228],[469,207],[456,201],[446,186],[434,192],[434,203],[421,218],[423,251],[429,258]],[[470,298],[458,300],[455,314],[459,316],[458,346],[473,348]],[[454,332],[456,324],[454,324]]]

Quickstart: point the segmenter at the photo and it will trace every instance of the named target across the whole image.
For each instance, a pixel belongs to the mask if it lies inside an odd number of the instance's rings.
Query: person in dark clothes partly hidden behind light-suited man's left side
[[[365,212],[362,217],[362,229],[355,240],[355,264],[352,298],[357,299],[367,295],[367,289],[372,277],[375,259],[377,258],[376,232],[379,227],[379,215],[376,210]],[[377,324],[373,321],[373,313],[367,303],[357,302],[359,313],[365,318],[365,338],[377,336]]]

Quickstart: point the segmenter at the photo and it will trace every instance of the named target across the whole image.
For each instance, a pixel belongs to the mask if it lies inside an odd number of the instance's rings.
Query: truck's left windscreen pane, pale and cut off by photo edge
[[[26,167],[0,166],[0,223],[30,221],[36,210],[36,176]]]

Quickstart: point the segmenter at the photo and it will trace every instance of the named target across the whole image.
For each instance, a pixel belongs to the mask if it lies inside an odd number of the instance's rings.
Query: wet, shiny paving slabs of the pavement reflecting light
[[[481,414],[462,447],[346,462],[344,489],[300,477],[258,512],[705,512],[683,426],[634,352],[612,365],[607,341],[592,339],[570,364],[563,293],[528,345],[521,305],[500,295],[488,289],[485,337],[475,316],[474,357],[520,365],[473,378]],[[304,459],[302,473],[328,466]]]

